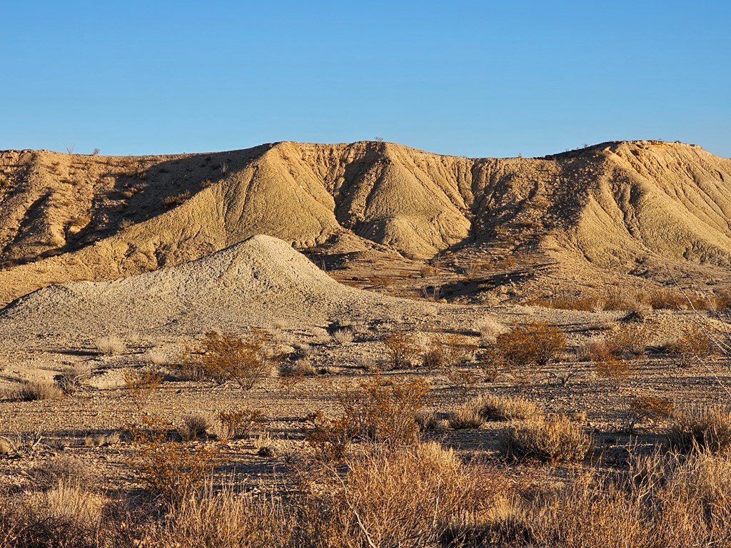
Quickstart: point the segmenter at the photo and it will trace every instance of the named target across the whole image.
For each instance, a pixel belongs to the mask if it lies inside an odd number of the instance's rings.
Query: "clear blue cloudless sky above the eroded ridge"
[[[7,1],[0,149],[731,156],[727,1]]]

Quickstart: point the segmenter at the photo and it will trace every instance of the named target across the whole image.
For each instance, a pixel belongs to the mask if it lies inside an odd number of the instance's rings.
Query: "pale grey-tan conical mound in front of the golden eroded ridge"
[[[93,340],[100,332],[195,335],[202,326],[242,331],[275,321],[294,329],[387,318],[395,305],[412,316],[434,307],[343,286],[288,243],[258,235],[175,267],[39,289],[0,311],[0,332],[6,340],[20,333]]]

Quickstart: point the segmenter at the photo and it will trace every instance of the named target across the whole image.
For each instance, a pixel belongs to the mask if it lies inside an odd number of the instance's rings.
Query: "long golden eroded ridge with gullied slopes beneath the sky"
[[[553,278],[668,265],[717,278],[731,265],[730,219],[731,160],[681,143],[607,142],[537,159],[386,142],[142,157],[6,151],[0,302],[180,265],[256,234],[415,262],[445,250],[532,254]]]

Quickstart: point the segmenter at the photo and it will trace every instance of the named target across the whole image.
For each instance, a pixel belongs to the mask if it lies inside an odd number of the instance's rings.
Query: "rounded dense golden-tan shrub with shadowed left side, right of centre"
[[[535,458],[548,463],[576,463],[591,449],[591,439],[567,416],[539,416],[511,428],[505,438],[510,457]]]

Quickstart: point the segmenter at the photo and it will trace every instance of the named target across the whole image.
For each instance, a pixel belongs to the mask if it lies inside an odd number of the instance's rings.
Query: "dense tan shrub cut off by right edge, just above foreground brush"
[[[680,452],[729,452],[731,411],[705,407],[677,412],[668,436],[670,446]]]

